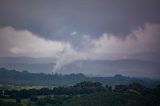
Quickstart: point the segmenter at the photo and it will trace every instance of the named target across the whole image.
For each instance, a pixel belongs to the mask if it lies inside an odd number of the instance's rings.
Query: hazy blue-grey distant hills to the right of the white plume
[[[85,73],[87,75],[125,76],[160,78],[160,62],[144,60],[85,60],[77,61],[62,67],[60,73]]]

